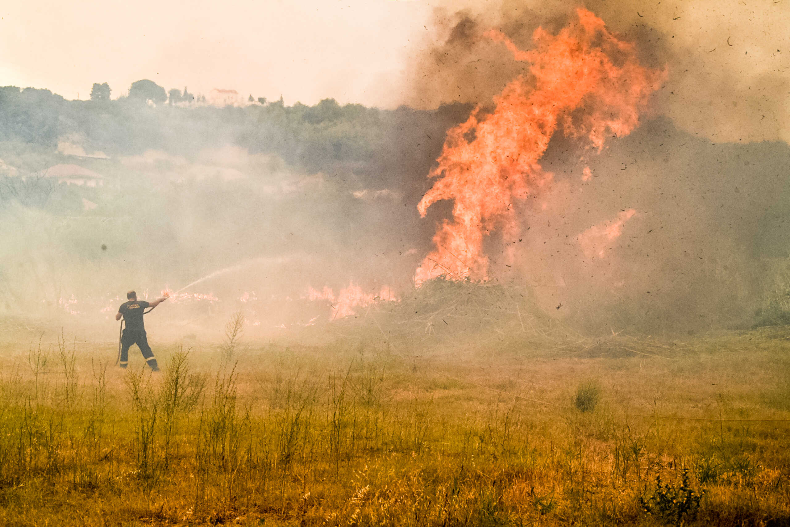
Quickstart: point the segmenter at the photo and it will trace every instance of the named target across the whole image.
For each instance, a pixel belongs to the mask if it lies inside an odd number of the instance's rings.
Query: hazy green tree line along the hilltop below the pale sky
[[[90,100],[66,100],[48,89],[2,87],[0,141],[50,149],[62,137],[76,134],[86,150],[108,156],[149,149],[188,156],[216,145],[238,145],[250,153],[277,154],[311,171],[341,162],[359,168],[375,165],[381,172],[382,159],[402,158],[402,164],[411,166],[409,158],[419,156],[424,177],[445,131],[471,110],[464,104],[435,111],[382,110],[340,105],[333,99],[287,106],[281,97],[260,97],[244,107],[214,107],[201,104],[205,98],[187,88],[166,92],[147,79],[134,82],[126,96],[111,99],[111,92],[106,82],[95,83]]]

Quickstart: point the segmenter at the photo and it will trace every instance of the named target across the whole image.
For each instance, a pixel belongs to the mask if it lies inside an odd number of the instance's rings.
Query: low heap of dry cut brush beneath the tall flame
[[[329,333],[384,341],[397,353],[474,344],[489,350],[529,350],[549,356],[672,360],[705,346],[635,336],[624,330],[598,337],[584,335],[556,314],[542,310],[528,287],[446,277],[427,280],[399,300],[356,307],[353,316],[336,318],[332,325],[336,331]],[[325,329],[322,327],[322,332]],[[739,338],[747,341],[751,336],[744,332]]]

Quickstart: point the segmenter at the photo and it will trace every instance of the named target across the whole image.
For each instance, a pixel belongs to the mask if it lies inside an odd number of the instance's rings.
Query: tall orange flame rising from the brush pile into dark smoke
[[[606,137],[622,137],[638,126],[664,72],[641,66],[634,44],[619,40],[593,13],[580,8],[577,16],[556,36],[536,29],[532,51],[517,49],[499,32],[486,33],[516,60],[531,62],[531,75],[510,81],[495,97],[491,115],[481,117],[478,107],[448,132],[429,175],[438,180],[418,210],[424,217],[433,203],[451,199],[453,220],[438,228],[416,284],[442,275],[487,279],[484,235],[520,232],[513,202],[551,182],[553,176],[538,161],[558,128],[600,151]]]

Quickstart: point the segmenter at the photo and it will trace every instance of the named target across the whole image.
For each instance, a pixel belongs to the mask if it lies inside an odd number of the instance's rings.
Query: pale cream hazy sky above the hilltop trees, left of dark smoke
[[[236,89],[287,104],[398,98],[427,2],[393,0],[31,0],[0,7],[0,85],[76,99],[149,78],[165,88]],[[420,32],[420,30],[422,30]]]

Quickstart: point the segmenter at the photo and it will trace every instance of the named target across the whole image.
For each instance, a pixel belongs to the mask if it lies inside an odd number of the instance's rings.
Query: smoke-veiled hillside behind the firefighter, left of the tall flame
[[[230,269],[187,291],[206,296],[179,301],[194,304],[179,316],[246,307],[269,329],[330,314],[310,287],[410,284],[432,228],[412,203],[443,131],[468,112],[2,95],[6,314],[110,318],[100,308],[129,288],[150,297]]]

